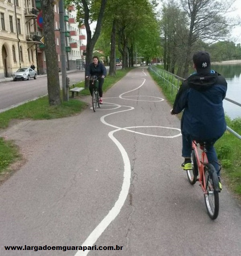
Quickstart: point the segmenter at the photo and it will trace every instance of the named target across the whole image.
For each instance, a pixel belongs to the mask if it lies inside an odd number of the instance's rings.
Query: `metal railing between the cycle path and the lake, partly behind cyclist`
[[[185,79],[182,77],[178,77],[177,75],[170,73],[168,71],[165,71],[163,69],[158,69],[157,67],[155,67],[154,65],[149,65],[149,70],[151,70],[153,73],[155,73],[155,75],[157,77],[159,77],[160,79],[162,79],[162,81],[164,82],[164,85],[167,86],[172,86],[172,94],[173,91],[176,90],[176,92],[178,92],[178,89],[182,83],[182,81],[184,81]],[[241,106],[240,103],[231,100],[229,98],[225,98],[225,100],[232,102],[233,104],[237,105],[237,106]],[[238,137],[239,139],[241,139],[241,135],[239,135],[236,131],[234,131],[233,129],[231,129],[230,127],[227,126],[227,130],[230,131],[231,133],[233,133],[233,135],[235,135],[236,137]]]

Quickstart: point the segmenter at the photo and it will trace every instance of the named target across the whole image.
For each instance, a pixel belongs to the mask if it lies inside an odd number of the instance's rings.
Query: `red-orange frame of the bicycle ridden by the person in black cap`
[[[196,153],[196,159],[197,159],[197,164],[198,164],[198,173],[199,173],[199,178],[198,181],[200,183],[200,186],[202,187],[202,191],[206,193],[206,180],[205,180],[205,175],[204,175],[204,165],[208,163],[208,158],[205,152],[205,147],[202,149],[201,152],[201,160],[198,155],[198,145],[196,141],[192,141],[192,148],[194,149]]]

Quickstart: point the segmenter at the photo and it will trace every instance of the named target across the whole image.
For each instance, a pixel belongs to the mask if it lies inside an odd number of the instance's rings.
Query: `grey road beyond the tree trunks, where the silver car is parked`
[[[84,71],[68,73],[67,76],[70,84],[78,83],[84,80]],[[61,75],[59,82],[62,88]],[[45,94],[47,94],[46,76],[38,76],[36,80],[0,83],[0,110]]]

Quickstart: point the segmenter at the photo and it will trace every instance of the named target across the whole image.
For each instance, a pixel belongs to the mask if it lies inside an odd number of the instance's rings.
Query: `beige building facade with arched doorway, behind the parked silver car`
[[[41,38],[35,25],[38,14],[33,0],[0,0],[0,78],[32,63],[36,66]]]

